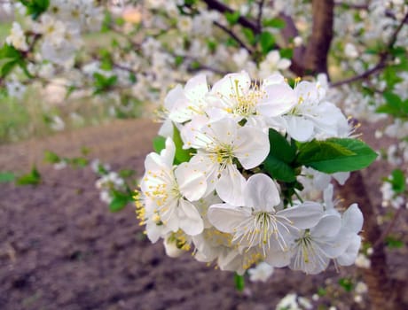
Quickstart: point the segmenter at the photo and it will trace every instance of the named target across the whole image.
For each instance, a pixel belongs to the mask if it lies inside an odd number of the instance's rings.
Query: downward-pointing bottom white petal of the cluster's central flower
[[[227,165],[216,182],[216,193],[230,205],[244,205],[244,188],[247,184],[235,165]]]

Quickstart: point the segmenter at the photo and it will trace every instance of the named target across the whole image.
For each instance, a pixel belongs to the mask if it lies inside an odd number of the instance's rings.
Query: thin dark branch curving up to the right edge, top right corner
[[[359,80],[365,80],[368,77],[370,77],[373,74],[377,74],[378,72],[380,72],[382,69],[384,69],[387,66],[387,61],[390,54],[390,50],[392,50],[392,48],[394,47],[394,44],[396,43],[396,39],[398,38],[399,33],[401,32],[402,28],[404,27],[404,24],[408,22],[408,12],[405,14],[404,19],[401,20],[401,22],[399,23],[398,27],[396,27],[396,30],[394,31],[394,33],[391,35],[389,42],[387,44],[387,48],[385,51],[381,52],[379,54],[380,58],[379,61],[377,63],[377,65],[373,66],[373,68],[365,71],[362,74],[357,74],[355,76],[352,76],[348,79],[345,80],[341,80],[341,81],[336,81],[334,83],[331,84],[332,87],[338,87],[344,84],[349,84],[352,83],[354,81],[359,81]]]

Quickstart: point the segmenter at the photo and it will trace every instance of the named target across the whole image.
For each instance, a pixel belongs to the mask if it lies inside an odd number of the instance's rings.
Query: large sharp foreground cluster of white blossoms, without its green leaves
[[[331,198],[284,205],[279,183],[261,167],[270,128],[298,142],[348,136],[346,118],[325,92],[309,81],[293,89],[280,74],[254,83],[246,72],[227,74],[211,89],[203,74],[171,89],[162,109],[165,148],[147,155],[137,193],[149,239],[164,239],[171,256],[193,246],[196,260],[239,274],[262,261],[308,274],[332,259],[353,264],[363,224],[357,205],[342,214]],[[176,143],[187,158],[177,158]]]

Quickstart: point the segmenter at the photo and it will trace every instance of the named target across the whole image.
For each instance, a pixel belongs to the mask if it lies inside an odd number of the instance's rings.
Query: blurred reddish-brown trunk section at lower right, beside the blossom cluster
[[[377,243],[381,237],[381,229],[377,223],[376,209],[365,189],[365,182],[361,172],[353,172],[348,182],[339,188],[345,203],[350,205],[357,202],[364,214],[365,222],[363,236],[365,241],[376,244],[373,248],[373,255],[370,256],[371,268],[362,269],[365,283],[368,286],[368,294],[373,310],[399,309],[396,304],[396,293],[393,290],[392,282],[388,275],[387,257],[384,252],[384,244]]]

